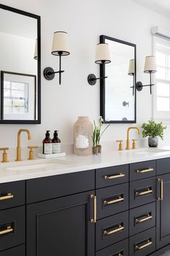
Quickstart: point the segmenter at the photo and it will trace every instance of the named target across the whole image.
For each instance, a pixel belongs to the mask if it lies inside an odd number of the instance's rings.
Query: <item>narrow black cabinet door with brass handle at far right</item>
[[[157,177],[156,249],[170,244],[170,174]]]

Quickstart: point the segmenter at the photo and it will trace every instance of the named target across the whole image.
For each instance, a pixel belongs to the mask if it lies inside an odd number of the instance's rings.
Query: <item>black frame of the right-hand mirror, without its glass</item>
[[[123,43],[126,44],[128,46],[133,46],[134,47],[134,59],[135,59],[135,77],[134,77],[134,82],[136,84],[136,45],[134,43],[128,43],[126,41],[123,40],[119,40],[117,38],[111,38],[107,35],[100,35],[99,37],[99,43],[105,43],[105,40],[113,40],[117,43]],[[109,64],[107,64],[109,65]],[[100,77],[105,77],[105,64],[100,64]],[[106,79],[101,79],[100,80],[100,116],[102,116],[102,118],[104,119],[104,123],[105,124],[133,124],[136,123],[136,88],[135,88],[135,104],[134,104],[134,108],[135,108],[135,118],[134,120],[130,120],[130,121],[119,121],[119,120],[112,120],[112,121],[105,121],[105,86],[106,86]],[[134,85],[135,86],[135,85]]]

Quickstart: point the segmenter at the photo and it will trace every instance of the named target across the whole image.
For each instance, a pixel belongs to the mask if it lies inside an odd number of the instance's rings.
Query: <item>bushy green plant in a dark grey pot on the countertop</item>
[[[144,123],[141,127],[143,129],[143,137],[148,137],[148,146],[157,147],[158,146],[158,137],[161,137],[161,140],[164,139],[164,125],[161,123],[156,123],[156,121],[150,120],[147,123]]]

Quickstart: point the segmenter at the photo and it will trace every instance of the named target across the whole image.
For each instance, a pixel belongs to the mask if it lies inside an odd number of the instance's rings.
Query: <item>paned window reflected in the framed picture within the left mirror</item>
[[[4,114],[28,112],[28,84],[4,81]]]

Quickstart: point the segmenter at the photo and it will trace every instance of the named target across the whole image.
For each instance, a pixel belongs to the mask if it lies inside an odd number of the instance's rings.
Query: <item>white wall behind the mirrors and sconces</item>
[[[63,57],[62,85],[58,76],[53,81],[42,77],[42,124],[0,126],[0,145],[14,147],[17,130],[30,129],[32,143],[40,144],[45,130],[59,130],[63,144],[73,142],[73,123],[77,116],[89,116],[91,121],[99,116],[99,83],[91,87],[87,75],[99,74],[94,64],[99,35],[109,35],[137,44],[137,80],[148,82],[143,74],[145,56],[151,54],[151,27],[161,25],[170,29],[170,20],[156,12],[141,7],[130,0],[1,0],[6,4],[41,16],[42,70],[47,66],[58,69],[58,57],[50,54],[53,32],[66,30],[70,40],[71,55]],[[137,125],[151,118],[149,89],[137,92]],[[126,137],[126,124],[112,124],[103,137],[115,146],[115,140]],[[166,143],[170,145],[170,126],[166,130]],[[24,137],[25,135],[23,135]],[[133,135],[132,135],[133,136]],[[135,135],[137,136],[137,135]],[[22,145],[27,145],[23,140]]]

